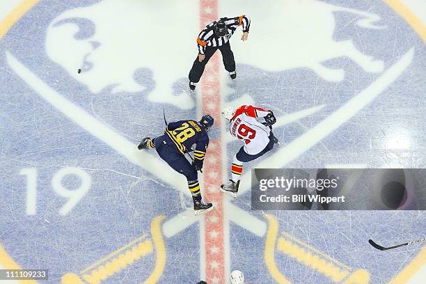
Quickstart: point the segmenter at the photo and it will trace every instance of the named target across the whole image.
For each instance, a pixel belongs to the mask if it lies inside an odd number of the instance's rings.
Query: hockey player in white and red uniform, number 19
[[[235,111],[226,107],[222,111],[222,116],[229,120],[230,134],[244,142],[244,146],[232,160],[230,183],[221,185],[221,191],[236,197],[243,164],[261,157],[278,143],[278,139],[272,133],[272,125],[276,123],[276,118],[272,111],[246,105]]]

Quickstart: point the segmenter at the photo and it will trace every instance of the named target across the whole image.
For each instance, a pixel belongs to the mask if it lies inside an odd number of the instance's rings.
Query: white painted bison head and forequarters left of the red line
[[[192,20],[173,20],[180,15],[178,4],[167,9],[153,5],[156,8],[150,9],[138,1],[104,0],[65,10],[47,28],[46,54],[93,94],[143,93],[150,102],[192,109],[194,99],[187,91],[173,92],[173,84],[186,74],[189,47],[194,43],[187,41],[171,50],[166,42],[157,42],[159,35],[167,35],[167,42],[189,38],[191,29],[186,28]],[[183,34],[169,33],[166,26],[152,29],[150,19],[156,17],[156,10],[175,22],[176,29],[182,28]],[[129,26],[132,29],[124,28]],[[64,54],[63,49],[73,52]],[[75,72],[79,68],[81,74]],[[139,70],[144,69],[152,71],[150,78],[138,80]]]

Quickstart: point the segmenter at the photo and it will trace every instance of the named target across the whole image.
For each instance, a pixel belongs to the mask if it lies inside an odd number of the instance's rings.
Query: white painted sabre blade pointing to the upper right
[[[319,143],[326,136],[338,129],[350,118],[361,111],[363,107],[372,102],[380,95],[390,84],[392,84],[406,70],[413,61],[414,49],[410,49],[400,60],[395,62],[388,70],[386,70],[376,81],[365,88],[361,93],[352,97],[345,105],[331,113],[331,115],[320,123],[309,129],[292,142],[280,148],[271,157],[262,160],[256,165],[257,168],[282,168],[294,159],[297,159],[304,152],[309,150],[313,145]],[[242,177],[239,192],[244,194],[251,187],[251,175],[246,173]]]

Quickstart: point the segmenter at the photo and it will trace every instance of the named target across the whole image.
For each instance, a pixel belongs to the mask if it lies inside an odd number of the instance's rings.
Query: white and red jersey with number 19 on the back
[[[235,111],[235,115],[230,120],[230,134],[244,141],[244,150],[249,155],[258,154],[269,143],[271,129],[262,125],[257,119],[264,118],[269,112],[260,107],[244,105]]]

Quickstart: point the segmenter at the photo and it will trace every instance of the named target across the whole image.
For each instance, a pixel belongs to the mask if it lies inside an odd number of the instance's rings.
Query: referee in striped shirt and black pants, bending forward
[[[223,17],[207,24],[203,31],[200,32],[197,38],[198,56],[192,65],[191,71],[189,71],[189,88],[191,90],[195,90],[196,83],[200,81],[201,75],[203,75],[205,65],[217,49],[221,51],[223,65],[225,65],[225,69],[229,72],[231,79],[237,77],[234,54],[230,49],[229,39],[238,26],[242,26],[243,30],[241,40],[247,40],[250,19],[245,15],[232,18]]]

